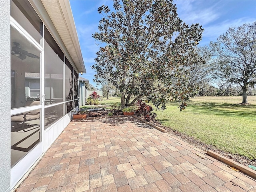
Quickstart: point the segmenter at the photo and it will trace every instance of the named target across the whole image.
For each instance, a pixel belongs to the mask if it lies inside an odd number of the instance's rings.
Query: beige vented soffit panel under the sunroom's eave
[[[86,72],[68,0],[41,0],[79,72]]]

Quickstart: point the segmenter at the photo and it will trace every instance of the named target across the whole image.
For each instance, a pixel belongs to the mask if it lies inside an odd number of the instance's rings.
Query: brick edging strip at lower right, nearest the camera
[[[210,155],[211,157],[217,159],[217,160],[220,160],[230,166],[233,166],[237,169],[239,169],[241,172],[244,172],[245,174],[248,174],[249,176],[251,176],[252,178],[255,178],[256,179],[256,171],[252,170],[251,168],[249,167],[246,167],[242,164],[239,164],[238,162],[235,162],[221,154],[218,154],[214,151],[211,151],[211,150],[208,150],[207,151],[207,154]]]

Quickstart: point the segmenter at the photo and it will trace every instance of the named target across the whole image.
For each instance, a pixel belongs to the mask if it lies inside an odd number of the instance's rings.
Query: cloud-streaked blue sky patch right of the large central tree
[[[255,22],[255,14],[242,14],[232,1],[221,0],[180,0],[177,2],[178,16],[187,24],[199,23],[204,28],[200,45],[216,41],[231,26],[242,26]],[[244,8],[245,9],[245,8]]]

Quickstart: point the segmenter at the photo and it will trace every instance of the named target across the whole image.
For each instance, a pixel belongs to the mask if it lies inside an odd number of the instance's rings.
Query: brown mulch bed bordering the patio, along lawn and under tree
[[[90,111],[87,113],[87,117],[102,117],[102,116],[108,116],[108,112],[112,111],[113,112],[113,115],[123,115],[123,112],[121,110],[97,110],[97,111]],[[140,117],[142,118],[142,117]],[[154,122],[151,122],[153,124],[156,124],[157,126],[160,126],[161,128],[164,128],[167,130],[167,132],[169,134],[172,134],[172,135],[175,135],[177,136],[178,138],[181,138],[182,140],[190,143],[190,144],[193,144],[195,145],[196,147],[204,150],[204,151],[207,151],[207,150],[212,150],[214,152],[217,152],[219,154],[222,154],[223,156],[227,157],[227,158],[230,158],[244,166],[248,166],[248,165],[252,165],[252,166],[256,166],[256,159],[254,160],[250,160],[244,156],[240,156],[240,155],[237,155],[237,154],[231,154],[229,152],[225,152],[225,151],[221,151],[221,150],[218,150],[216,149],[214,146],[212,145],[207,145],[207,144],[204,144],[202,142],[200,142],[199,140],[191,137],[191,136],[188,136],[186,134],[183,134],[183,133],[180,133],[176,130],[172,130],[171,128],[169,127],[165,127],[165,126],[162,126],[160,122],[158,121],[154,121]]]

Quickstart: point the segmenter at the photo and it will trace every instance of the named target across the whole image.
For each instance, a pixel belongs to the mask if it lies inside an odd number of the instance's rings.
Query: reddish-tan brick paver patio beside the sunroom
[[[256,192],[256,181],[175,136],[123,117],[70,122],[17,189],[30,191]]]

